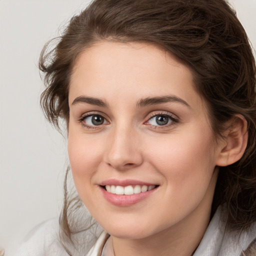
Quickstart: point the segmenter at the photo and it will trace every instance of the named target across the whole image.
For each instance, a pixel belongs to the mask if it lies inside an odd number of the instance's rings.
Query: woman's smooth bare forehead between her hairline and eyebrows
[[[201,102],[189,68],[159,46],[141,42],[100,41],[85,49],[73,68],[69,103],[79,94],[115,102],[172,94]]]

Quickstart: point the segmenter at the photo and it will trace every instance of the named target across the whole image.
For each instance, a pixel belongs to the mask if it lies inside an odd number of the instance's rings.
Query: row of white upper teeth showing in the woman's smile
[[[140,192],[146,192],[149,190],[152,190],[155,188],[155,185],[135,185],[134,187],[132,185],[128,186],[115,186],[115,185],[105,185],[105,189],[107,192],[112,194],[137,194]]]

